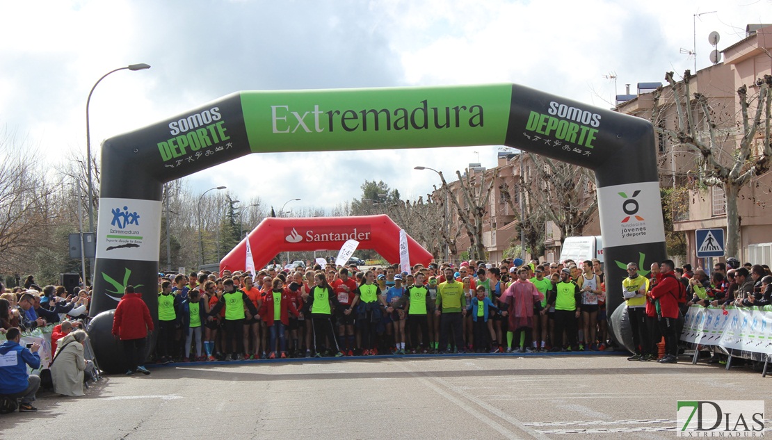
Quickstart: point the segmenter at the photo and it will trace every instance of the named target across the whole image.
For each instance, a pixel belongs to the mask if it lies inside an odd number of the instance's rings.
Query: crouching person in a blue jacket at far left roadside
[[[27,367],[37,370],[40,367],[39,344],[26,348],[19,344],[22,330],[11,327],[5,333],[8,338],[0,345],[0,394],[9,398],[21,398],[19,412],[38,411],[32,406],[35,394],[40,387],[40,377],[29,374]]]

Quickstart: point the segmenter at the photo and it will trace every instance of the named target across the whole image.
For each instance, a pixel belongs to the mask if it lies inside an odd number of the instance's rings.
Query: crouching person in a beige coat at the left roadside
[[[59,341],[54,353],[56,362],[51,364],[53,391],[63,396],[83,396],[83,372],[86,371],[86,357],[83,355],[83,341],[86,332],[76,330]]]

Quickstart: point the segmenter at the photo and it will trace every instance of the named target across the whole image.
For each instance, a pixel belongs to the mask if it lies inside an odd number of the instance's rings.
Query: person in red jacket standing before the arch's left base
[[[113,336],[124,344],[126,374],[140,371],[150,374],[144,367],[145,338],[147,330],[153,330],[153,319],[141,293],[134,293],[134,286],[126,286],[113,316]]]

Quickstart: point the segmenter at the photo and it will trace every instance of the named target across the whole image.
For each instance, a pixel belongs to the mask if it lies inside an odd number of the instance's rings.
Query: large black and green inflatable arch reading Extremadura
[[[130,284],[157,316],[165,182],[250,153],[500,144],[595,172],[610,315],[624,265],[665,258],[652,125],[514,84],[233,93],[104,141],[90,313],[113,310]],[[101,366],[120,371],[107,321],[91,338]]]

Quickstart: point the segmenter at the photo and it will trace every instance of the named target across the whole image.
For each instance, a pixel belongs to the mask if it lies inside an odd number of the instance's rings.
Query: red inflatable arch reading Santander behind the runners
[[[390,263],[399,262],[399,226],[388,215],[357,217],[313,217],[264,219],[246,239],[220,261],[224,270],[244,270],[246,240],[252,248],[252,260],[259,269],[276,254],[287,251],[322,251],[340,249],[347,240],[359,242],[357,249],[373,249]],[[432,254],[408,235],[411,266],[432,262]]]

